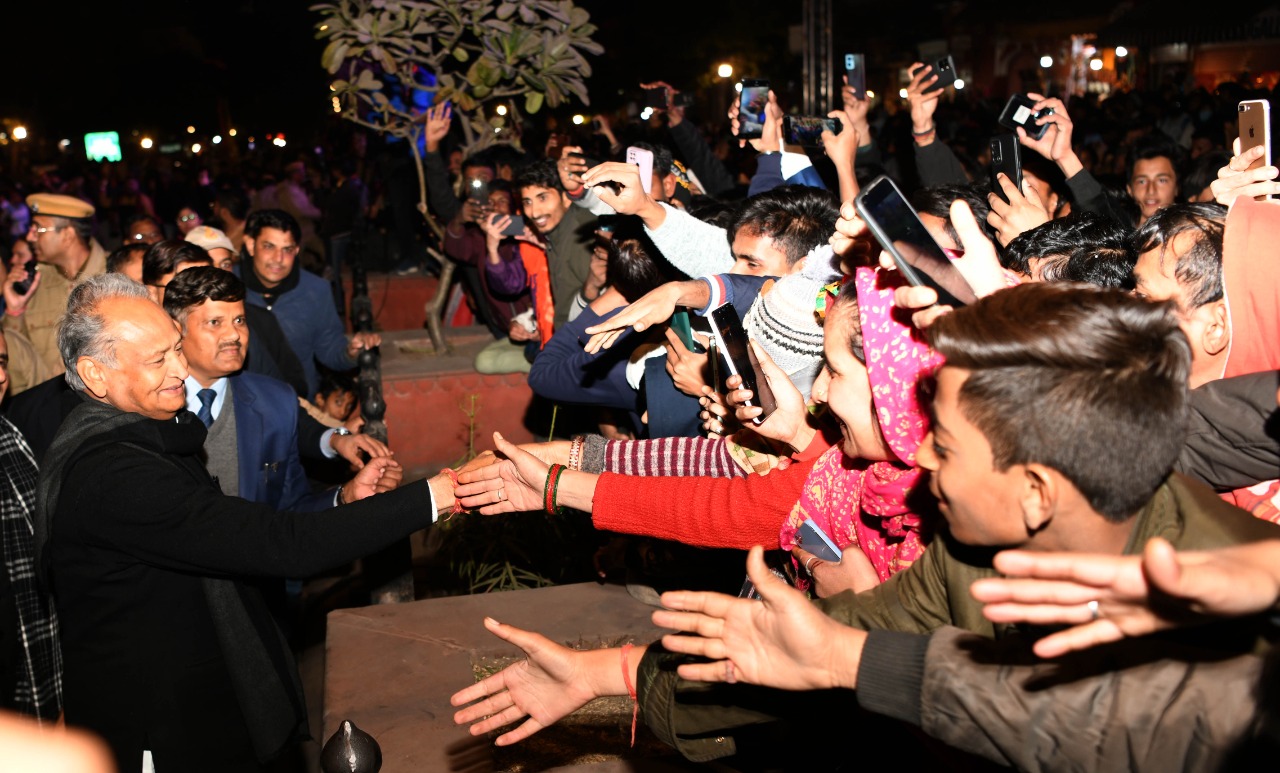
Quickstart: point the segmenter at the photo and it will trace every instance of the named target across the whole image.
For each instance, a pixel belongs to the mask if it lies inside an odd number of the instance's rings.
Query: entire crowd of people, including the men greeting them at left
[[[403,145],[328,184],[302,160],[266,184],[10,180],[0,708],[92,731],[120,770],[264,769],[307,732],[298,578],[440,517],[545,511],[742,550],[746,582],[640,572],[676,631],[648,645],[486,619],[527,658],[453,703],[474,733],[522,721],[499,745],[616,695],[689,759],[756,768],[797,733],[1019,769],[1274,754],[1280,182],[1231,142],[1266,95],[1027,95],[1044,132],[1016,131],[1018,180],[987,170],[1002,100],[913,72],[905,104],[846,84],[817,147],[772,92],[759,137],[736,102],[699,127],[672,100],[538,155],[467,156],[429,109],[433,251],[494,339],[476,370],[593,431],[495,435],[404,485],[360,433],[349,371],[380,338],[344,331],[340,282],[384,206],[388,267],[438,269]],[[972,303],[877,242],[882,177]],[[724,378],[717,312],[753,372]],[[308,484],[303,459],[338,458]]]

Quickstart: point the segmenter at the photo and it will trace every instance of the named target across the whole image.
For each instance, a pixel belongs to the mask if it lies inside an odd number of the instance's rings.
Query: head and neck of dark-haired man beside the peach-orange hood
[[[1172,301],[1192,343],[1192,386],[1222,378],[1231,320],[1222,296],[1222,235],[1226,210],[1216,203],[1178,203],[1138,229],[1133,250],[1135,291]]]

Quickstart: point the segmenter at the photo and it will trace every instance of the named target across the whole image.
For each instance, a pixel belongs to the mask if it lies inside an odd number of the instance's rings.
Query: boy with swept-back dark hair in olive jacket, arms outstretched
[[[530,726],[513,733],[520,738],[573,710],[577,701],[635,685],[650,728],[699,761],[741,751],[741,744],[767,732],[763,723],[780,715],[806,723],[809,732],[819,732],[814,724],[827,719],[847,731],[855,695],[840,689],[856,689],[864,708],[918,722],[922,690],[940,687],[922,687],[928,637],[904,634],[945,626],[1007,641],[1020,634],[983,617],[982,604],[969,594],[973,581],[996,576],[995,548],[1133,554],[1152,536],[1180,549],[1208,549],[1280,534],[1280,527],[1170,472],[1183,444],[1190,353],[1169,306],[1116,291],[1024,284],[943,316],[931,337],[946,365],[937,378],[933,431],[916,458],[933,472],[931,489],[947,530],[911,567],[872,590],[846,591],[814,605],[771,578],[755,548],[749,570],[764,593],[763,604],[721,594],[666,594],[671,612],[655,613],[654,622],[699,636],[667,636],[643,655],[573,654],[493,623],[490,630],[530,654],[518,668],[548,674],[548,681],[490,677],[454,696],[461,704],[492,695],[457,719],[497,714],[477,728],[489,729],[534,712]],[[1239,655],[1265,650],[1265,630],[1266,621],[1253,621],[1229,634],[1212,631],[1179,642]],[[1044,705],[1038,714],[1006,699],[974,706],[965,718],[1004,747],[1021,747],[1016,759],[1034,760],[1033,767],[1050,760],[1097,763],[1097,736],[1082,729],[1097,727],[1108,737],[1129,731],[1129,715],[1094,712],[1100,696],[1110,697],[1115,689],[1107,672],[1115,667],[1103,662],[1093,671],[1057,674],[1055,683],[1078,683],[1068,687],[1073,700]],[[831,689],[837,691],[790,692]],[[1019,683],[1009,692],[1030,699],[1034,689]],[[1174,685],[1152,695],[1167,704],[1140,704],[1140,710],[1158,715],[1181,699]],[[1023,728],[1032,722],[1038,736],[1052,741],[1027,749]],[[1190,747],[1212,742],[1185,729],[1169,737]],[[1124,738],[1108,747],[1133,751]],[[1169,750],[1144,746],[1137,754],[1149,756],[1128,761],[1162,759]]]

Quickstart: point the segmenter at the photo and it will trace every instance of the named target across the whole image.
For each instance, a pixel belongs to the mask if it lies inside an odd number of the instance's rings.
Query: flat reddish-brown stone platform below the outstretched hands
[[[490,635],[485,616],[538,631],[557,642],[648,642],[660,631],[652,607],[621,586],[581,584],[342,609],[329,613],[325,651],[324,737],[343,719],[371,733],[383,749],[383,773],[509,769],[521,746],[495,750],[453,724],[449,696],[476,681],[477,659],[520,650]],[[628,751],[628,712],[607,753]],[[548,731],[544,731],[548,733]],[[534,736],[535,738],[538,736]],[[527,744],[527,741],[525,742]],[[599,763],[543,761],[526,770],[672,772],[701,769],[666,747],[643,759]],[[500,756],[499,756],[500,755]]]

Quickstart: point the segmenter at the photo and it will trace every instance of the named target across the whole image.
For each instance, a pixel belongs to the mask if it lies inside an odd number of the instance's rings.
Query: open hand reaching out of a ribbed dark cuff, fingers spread
[[[746,573],[762,600],[718,593],[662,594],[666,609],[653,613],[654,625],[696,634],[668,634],[663,646],[710,660],[686,663],[680,676],[782,690],[856,687],[867,634],[827,617],[803,593],[776,577],[764,566],[759,545],[751,548]]]

